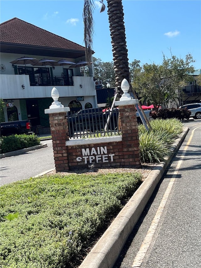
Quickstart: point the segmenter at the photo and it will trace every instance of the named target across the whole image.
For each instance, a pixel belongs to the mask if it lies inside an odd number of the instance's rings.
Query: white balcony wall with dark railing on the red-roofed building
[[[33,77],[33,76],[31,76]],[[51,79],[39,79],[29,75],[2,74],[0,80],[3,99],[51,98],[51,90],[56,87],[60,97],[95,96],[95,82],[91,76],[52,76]],[[80,85],[82,84],[82,88]],[[22,87],[23,85],[23,87]]]

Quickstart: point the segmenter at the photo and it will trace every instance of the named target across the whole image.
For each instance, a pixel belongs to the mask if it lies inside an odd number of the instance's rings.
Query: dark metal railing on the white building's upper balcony
[[[30,76],[31,86],[73,86],[72,76],[53,76],[53,77],[41,77]]]

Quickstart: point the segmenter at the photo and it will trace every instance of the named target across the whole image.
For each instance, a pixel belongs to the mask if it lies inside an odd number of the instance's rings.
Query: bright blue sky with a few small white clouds
[[[94,56],[112,61],[107,15],[95,2]],[[83,0],[1,0],[1,22],[17,17],[84,46]],[[104,0],[106,4],[106,0]],[[191,53],[201,68],[201,1],[122,0],[129,62],[162,63],[164,53],[185,58]]]

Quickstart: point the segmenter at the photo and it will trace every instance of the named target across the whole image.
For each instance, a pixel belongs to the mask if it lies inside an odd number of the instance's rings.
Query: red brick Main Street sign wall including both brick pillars
[[[81,140],[85,143],[82,145],[67,141],[66,112],[49,114],[56,171],[88,169],[92,163],[95,167],[141,166],[135,113],[135,105],[119,106],[121,140],[114,141],[113,137],[104,138],[104,142],[100,142],[100,138],[88,139],[87,142]]]

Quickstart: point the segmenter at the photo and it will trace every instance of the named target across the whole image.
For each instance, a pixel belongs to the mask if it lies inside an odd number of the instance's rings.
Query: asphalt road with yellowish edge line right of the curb
[[[201,120],[155,189],[113,268],[201,267]]]

